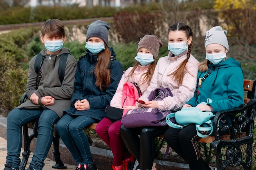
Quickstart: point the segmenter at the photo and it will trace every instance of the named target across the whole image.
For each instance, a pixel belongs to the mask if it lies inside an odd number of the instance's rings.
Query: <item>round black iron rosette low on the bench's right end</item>
[[[226,159],[233,166],[238,166],[242,160],[242,152],[239,147],[229,147],[226,151]]]

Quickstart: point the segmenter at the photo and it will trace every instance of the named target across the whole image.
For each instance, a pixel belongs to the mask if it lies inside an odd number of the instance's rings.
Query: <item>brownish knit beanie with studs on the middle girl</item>
[[[161,40],[155,35],[145,35],[142,37],[138,43],[137,52],[141,47],[144,47],[153,54],[154,59],[156,60],[159,53],[159,48],[163,45]]]

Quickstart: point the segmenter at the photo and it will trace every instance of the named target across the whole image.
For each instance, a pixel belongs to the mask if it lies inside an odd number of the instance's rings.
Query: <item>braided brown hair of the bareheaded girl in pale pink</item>
[[[184,31],[186,38],[189,39],[190,37],[193,37],[193,32],[191,28],[181,22],[175,23],[170,28],[168,29],[168,34],[170,31]],[[191,53],[191,46],[192,46],[192,41],[188,46],[188,52],[186,53],[186,59],[180,64],[180,66],[175,70],[173,73],[170,75],[173,75],[174,81],[178,83],[178,85],[182,84],[183,78],[185,71],[189,72],[186,68],[186,63],[189,61],[190,53]],[[168,76],[170,76],[168,75]]]

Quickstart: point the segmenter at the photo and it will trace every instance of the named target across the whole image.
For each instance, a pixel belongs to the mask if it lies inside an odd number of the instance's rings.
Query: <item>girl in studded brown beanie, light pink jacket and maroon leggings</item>
[[[135,66],[130,67],[123,74],[117,91],[110,102],[110,106],[122,108],[122,90],[125,82],[135,82],[138,84],[143,94],[149,86],[150,80],[155,70],[159,48],[162,42],[155,35],[145,35],[138,43]],[[125,109],[135,108],[126,106]],[[113,159],[113,170],[130,170],[134,157],[130,155],[124,147],[124,142],[120,135],[121,120],[111,121],[104,117],[96,126],[96,133],[111,148]]]

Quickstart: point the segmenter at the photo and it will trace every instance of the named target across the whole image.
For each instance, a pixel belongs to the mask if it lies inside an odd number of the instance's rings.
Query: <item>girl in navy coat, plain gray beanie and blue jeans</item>
[[[79,57],[71,98],[72,107],[56,128],[77,163],[76,170],[97,170],[83,129],[105,116],[121,79],[123,68],[108,47],[108,22],[97,20],[87,26],[85,55]]]

